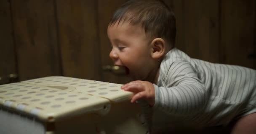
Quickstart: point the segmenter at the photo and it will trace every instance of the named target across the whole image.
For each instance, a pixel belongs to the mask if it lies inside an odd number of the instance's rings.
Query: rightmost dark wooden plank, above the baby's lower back
[[[221,0],[221,49],[227,64],[254,68],[255,0]]]

